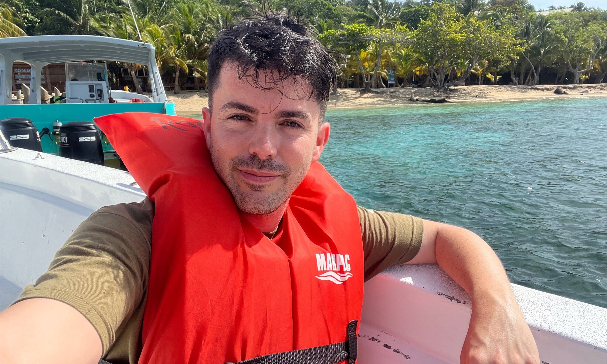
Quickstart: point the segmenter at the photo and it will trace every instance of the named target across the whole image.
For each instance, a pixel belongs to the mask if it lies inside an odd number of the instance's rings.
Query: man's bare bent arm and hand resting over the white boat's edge
[[[531,330],[500,259],[478,235],[424,220],[418,254],[405,264],[436,264],[472,298],[462,364],[539,364]]]

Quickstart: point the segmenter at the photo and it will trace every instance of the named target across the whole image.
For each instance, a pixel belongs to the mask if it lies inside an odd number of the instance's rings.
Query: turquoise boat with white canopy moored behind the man
[[[146,73],[149,83],[145,86],[152,95],[111,90],[103,61],[136,64]],[[27,64],[29,69],[15,69],[15,62]],[[42,88],[43,83],[49,87],[43,67],[58,63],[66,67],[65,81],[59,86],[64,92]],[[27,72],[25,87],[24,76],[18,71]],[[15,91],[15,85],[21,92]],[[41,133],[42,152],[59,155],[59,126],[122,112],[176,115],[175,104],[168,102],[164,93],[152,44],[90,35],[0,38],[0,120],[31,120]],[[105,160],[115,160],[114,147],[106,138],[102,140]]]

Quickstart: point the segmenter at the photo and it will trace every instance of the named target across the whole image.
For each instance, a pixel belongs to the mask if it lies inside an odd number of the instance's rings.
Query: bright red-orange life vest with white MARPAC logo
[[[140,363],[223,364],[347,340],[362,308],[360,222],[320,163],[270,239],[215,173],[202,121],[122,113],[95,123],[155,203]]]

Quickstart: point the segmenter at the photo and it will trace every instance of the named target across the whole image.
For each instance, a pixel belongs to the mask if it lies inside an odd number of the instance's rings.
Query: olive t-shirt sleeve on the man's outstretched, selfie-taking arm
[[[73,306],[97,329],[105,353],[147,286],[153,209],[146,199],[93,212],[16,302],[53,298]]]

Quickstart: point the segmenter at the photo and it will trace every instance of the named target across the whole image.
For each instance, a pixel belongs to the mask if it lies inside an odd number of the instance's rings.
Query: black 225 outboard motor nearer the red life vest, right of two
[[[72,121],[59,128],[59,155],[103,166],[101,136],[95,124]]]

